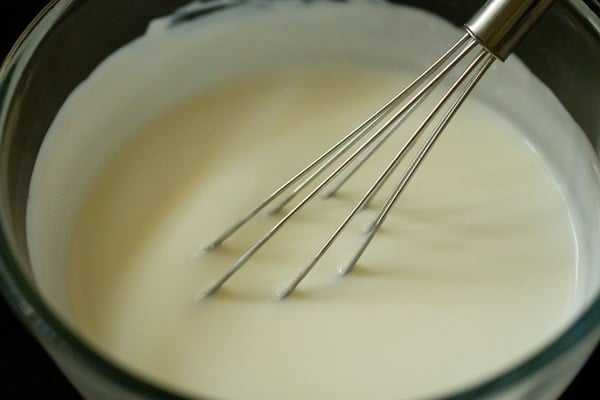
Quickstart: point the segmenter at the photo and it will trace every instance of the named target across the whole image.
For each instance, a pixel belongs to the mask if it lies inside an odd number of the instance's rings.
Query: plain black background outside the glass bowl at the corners
[[[4,58],[19,34],[46,3],[46,0],[0,0],[0,59]],[[43,349],[12,315],[3,299],[0,299],[0,338],[3,339],[0,349],[0,398],[81,399]],[[600,398],[596,382],[599,375],[595,373],[599,370],[600,350],[597,350],[561,400]]]

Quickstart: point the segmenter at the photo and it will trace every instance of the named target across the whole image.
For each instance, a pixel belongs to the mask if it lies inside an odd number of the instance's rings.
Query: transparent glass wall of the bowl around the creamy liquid
[[[112,365],[87,347],[39,297],[26,252],[25,203],[29,180],[44,134],[73,88],[110,53],[143,34],[151,19],[169,14],[187,2],[56,1],[13,54],[0,82],[0,287],[15,313],[90,400],[183,397]],[[394,2],[427,9],[456,24],[466,21],[483,3],[478,0]],[[215,12],[219,9],[216,7]],[[210,18],[210,13],[189,17]],[[591,15],[583,1],[559,1],[518,47],[517,53],[556,93],[598,148],[598,18]],[[600,300],[596,296],[577,324],[544,352],[452,398],[556,398],[596,346],[599,321]]]

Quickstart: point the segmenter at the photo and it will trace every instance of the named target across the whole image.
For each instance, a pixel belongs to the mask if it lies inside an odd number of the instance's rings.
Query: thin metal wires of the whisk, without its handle
[[[328,175],[323,178],[316,186],[312,188],[304,198],[302,198],[290,211],[288,211],[278,222],[276,222],[258,241],[256,241],[245,253],[239,257],[235,263],[227,270],[216,282],[214,282],[206,291],[200,294],[200,297],[211,296],[216,293],[237,271],[239,271],[247,261],[263,247],[282,227],[294,216],[306,203],[313,199],[325,187],[330,186],[334,179],[339,178],[342,171],[346,174],[341,176],[335,185],[331,185],[326,196],[333,195],[339,190],[342,185],[347,182],[350,177],[369,159],[376,150],[395,132],[398,127],[412,114],[412,112],[434,91],[440,84],[442,79],[448,75],[448,72],[471,53],[477,46],[469,34],[465,34],[458,40],[442,57],[440,57],[431,67],[423,72],[416,80],[414,80],[404,91],[396,95],[393,99],[375,112],[371,117],[365,120],[361,125],[347,134],[344,138],[330,147],[323,154],[318,156],[313,162],[300,170],[291,179],[285,182],[269,197],[263,200],[258,206],[251,209],[243,218],[235,222],[229,229],[223,232],[216,240],[206,246],[203,250],[208,251],[218,247],[222,242],[237,232],[250,219],[265,209],[271,202],[278,199],[283,193],[291,189],[291,192],[271,211],[278,212],[283,209],[292,199],[300,192],[308,187],[318,176],[325,171],[328,171],[334,162],[338,161],[347,152],[351,151],[350,155],[340,162],[339,165],[328,172]],[[363,252],[371,242],[375,233],[379,230],[386,216],[388,215],[393,204],[396,202],[400,193],[404,190],[407,183],[412,178],[423,158],[438,138],[441,131],[454,115],[456,109],[462,104],[466,96],[475,86],[477,81],[483,75],[485,70],[491,65],[495,57],[485,49],[482,49],[475,59],[470,63],[466,70],[454,82],[451,88],[443,95],[441,100],[434,107],[433,111],[425,118],[414,133],[404,143],[402,148],[396,153],[392,161],[387,165],[385,170],[379,175],[375,182],[370,186],[362,199],[354,206],[349,214],[346,215],[342,223],[337,227],[329,239],[322,245],[313,258],[308,262],[305,268],[292,280],[292,282],[279,293],[279,298],[288,297],[314,268],[322,256],[328,251],[333,242],[341,234],[348,223],[354,216],[368,204],[371,199],[379,192],[384,183],[389,179],[394,170],[400,164],[400,161],[411,150],[417,139],[422,135],[426,127],[431,123],[433,118],[439,113],[445,103],[449,101],[452,95],[461,87],[464,81],[476,71],[466,88],[462,91],[459,97],[452,104],[450,109],[444,114],[442,120],[438,123],[434,132],[427,138],[425,144],[418,151],[418,154],[408,166],[407,171],[401,176],[399,182],[394,187],[392,193],[384,202],[383,207],[378,211],[376,217],[369,224],[365,233],[364,239],[357,251],[353,254],[351,260],[345,264],[340,270],[341,274],[349,273]],[[482,64],[482,61],[485,60]],[[483,65],[477,69],[478,65]],[[372,132],[374,130],[374,132]],[[368,135],[370,133],[370,135]],[[362,143],[359,143],[363,140]],[[354,147],[358,146],[354,149]],[[352,168],[348,168],[352,166]],[[347,169],[348,168],[348,169]],[[298,183],[300,181],[300,183]]]

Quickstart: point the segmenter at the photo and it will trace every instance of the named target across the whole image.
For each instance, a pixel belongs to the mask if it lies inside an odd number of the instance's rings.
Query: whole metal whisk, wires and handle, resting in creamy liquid
[[[528,32],[551,5],[552,0],[489,0],[465,25],[466,33],[435,63],[423,72],[406,89],[396,95],[381,109],[347,134],[335,145],[309,163],[296,175],[281,185],[260,204],[224,231],[203,251],[217,248],[237,232],[253,217],[278,200],[271,212],[279,212],[288,206],[299,194],[307,193],[287,211],[261,238],[259,238],[240,258],[207,290],[201,297],[215,294],[247,261],[260,250],[302,207],[319,193],[332,196],[345,184],[361,166],[394,134],[407,118],[432,93],[434,89],[451,78],[434,106],[418,127],[408,136],[383,171],[376,177],[364,196],[323,243],[298,275],[278,294],[284,299],[294,292],[302,280],[309,274],[323,255],[329,250],[341,232],[347,227],[360,210],[380,191],[384,183],[400,165],[400,162],[413,154],[412,160],[401,173],[391,193],[368,225],[358,247],[349,261],[340,269],[342,275],[348,274],[379,231],[390,209],[414,176],[423,159],[448,125],[461,104],[468,97],[477,82],[496,59],[504,61],[515,45]],[[421,139],[420,146],[414,146]],[[418,147],[418,148],[415,148]]]

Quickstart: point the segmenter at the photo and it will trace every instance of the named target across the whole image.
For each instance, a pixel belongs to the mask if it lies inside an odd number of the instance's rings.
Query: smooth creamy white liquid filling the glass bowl
[[[349,21],[382,37],[398,18],[404,27],[438,24],[407,10],[388,17],[390,9],[281,7],[236,29],[268,39],[273,31],[263,33],[265,25],[285,26],[290,40],[301,43],[314,39],[300,38],[302,18],[318,13],[327,29],[337,24],[345,40],[355,35],[360,42],[364,32],[344,30]],[[206,41],[199,46],[215,50],[216,39],[206,38],[213,34],[227,48],[217,28],[199,27]],[[325,43],[315,44],[320,50],[307,59],[314,62],[290,66],[273,58],[237,69],[227,63],[231,71],[189,85],[186,77],[194,74],[186,72],[192,71],[187,60],[170,57],[188,54],[192,40],[182,38],[200,36],[179,29],[164,31],[157,23],[94,73],[52,126],[32,183],[29,235],[41,289],[110,359],[176,391],[218,398],[422,398],[504,371],[573,318],[578,268],[591,257],[577,244],[579,214],[561,189],[563,178],[553,176],[560,168],[538,153],[545,149],[536,146],[539,135],[511,114],[513,105],[489,105],[490,97],[501,100],[501,90],[510,91],[501,75],[464,105],[350,276],[339,278],[336,270],[371,212],[297,293],[275,301],[366,190],[369,167],[340,196],[311,203],[222,292],[198,301],[275,219],[259,217],[209,254],[199,256],[198,249],[411,75],[377,57],[385,49],[361,58],[350,46],[335,56]],[[434,28],[432,42],[437,29],[453,32]],[[175,71],[156,87],[144,82],[164,72],[160,61],[118,74],[156,48]],[[282,60],[294,64],[290,54]],[[409,71],[411,62],[404,64]],[[114,85],[102,91],[109,81]],[[525,98],[539,100],[529,111],[555,122],[560,107],[533,85],[520,87]],[[548,123],[558,135],[577,132],[564,113],[558,117],[567,122]],[[552,130],[544,135],[555,138]],[[397,144],[386,148],[384,160]],[[60,166],[53,161],[59,156]],[[67,182],[74,189],[65,194]],[[49,223],[54,230],[40,228]]]

